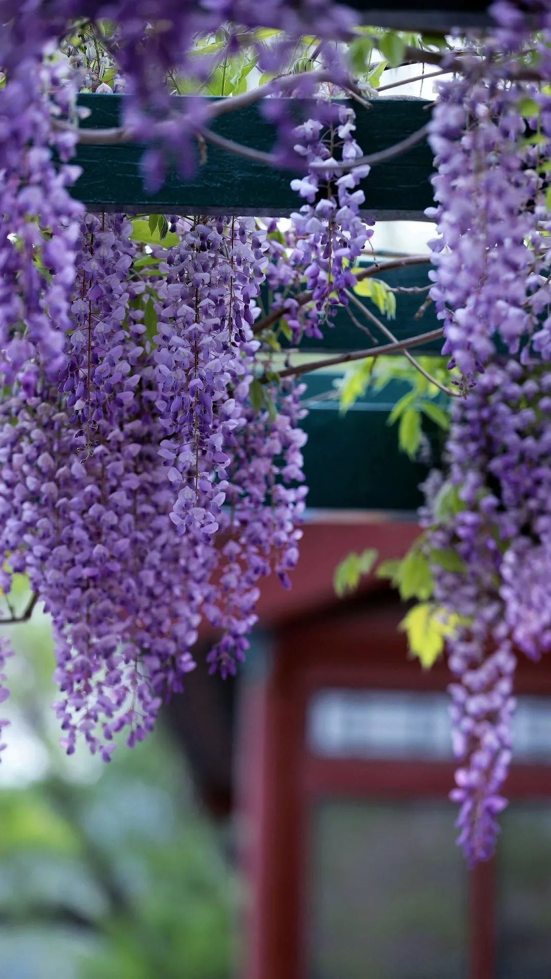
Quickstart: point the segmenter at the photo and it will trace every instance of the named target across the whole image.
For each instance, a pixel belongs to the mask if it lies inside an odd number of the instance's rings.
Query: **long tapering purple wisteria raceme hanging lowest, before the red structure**
[[[449,481],[429,481],[427,554],[434,598],[459,617],[448,640],[454,746],[462,765],[460,841],[472,862],[491,856],[511,758],[517,656],[551,650],[551,375],[533,363],[492,364],[455,402]],[[445,493],[456,503],[438,517]],[[453,551],[457,571],[438,555]]]

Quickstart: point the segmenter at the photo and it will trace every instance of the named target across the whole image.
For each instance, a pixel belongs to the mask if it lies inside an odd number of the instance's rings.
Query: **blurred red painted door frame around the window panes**
[[[318,617],[279,631],[264,676],[243,684],[238,757],[241,812],[246,820],[243,862],[252,884],[246,979],[307,979],[307,823],[316,799],[331,796],[446,798],[449,762],[379,762],[313,756],[305,738],[310,697],[327,687],[443,690],[445,664],[423,671],[407,658],[397,629],[403,608],[379,594],[371,605]],[[523,663],[523,693],[551,695],[545,662]],[[551,767],[512,769],[511,798],[551,798]],[[468,979],[494,975],[494,869],[470,880]]]

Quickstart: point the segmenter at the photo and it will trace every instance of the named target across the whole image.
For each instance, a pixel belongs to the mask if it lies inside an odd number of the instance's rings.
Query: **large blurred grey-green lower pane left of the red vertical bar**
[[[324,800],[311,834],[308,979],[464,979],[452,807]]]

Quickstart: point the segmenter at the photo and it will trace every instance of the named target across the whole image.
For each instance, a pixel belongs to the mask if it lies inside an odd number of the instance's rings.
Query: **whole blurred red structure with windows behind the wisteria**
[[[537,913],[551,901],[551,670],[521,665],[514,804],[497,862],[468,874],[447,801],[446,666],[408,659],[405,610],[373,576],[334,596],[349,550],[397,557],[417,533],[376,518],[311,524],[292,591],[264,587],[233,753],[246,979],[551,975]]]

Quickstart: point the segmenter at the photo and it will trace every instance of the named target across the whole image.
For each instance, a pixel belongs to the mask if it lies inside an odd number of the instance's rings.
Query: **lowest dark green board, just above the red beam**
[[[423,502],[419,489],[430,465],[411,462],[398,450],[396,426],[388,415],[409,388],[400,382],[359,399],[346,415],[338,401],[312,401],[331,389],[329,374],[307,379],[310,414],[303,423],[308,506],[315,509],[412,511]],[[425,423],[424,423],[425,425]],[[439,433],[427,428],[431,464],[440,456]]]

